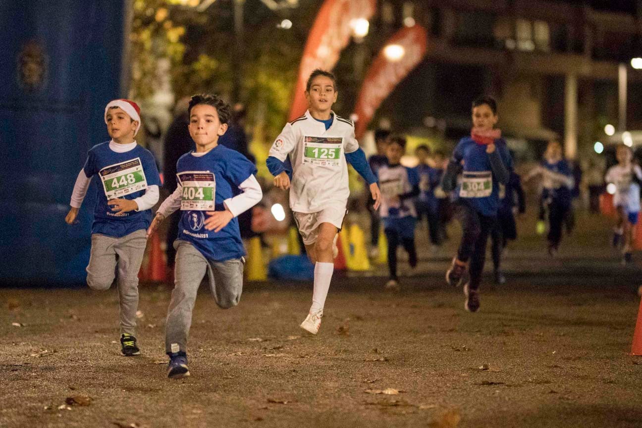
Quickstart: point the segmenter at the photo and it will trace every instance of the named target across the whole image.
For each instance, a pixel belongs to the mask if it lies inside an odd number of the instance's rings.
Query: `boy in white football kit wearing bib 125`
[[[309,110],[286,124],[272,144],[267,166],[274,185],[290,189],[290,208],[311,262],[315,263],[312,305],[300,327],[317,334],[334,272],[333,242],[341,229],[350,194],[347,162],[369,184],[375,209],[379,187],[365,153],[354,138],[354,124],[336,116],[334,74],[317,69],[306,84]],[[291,156],[290,176],[284,161]]]

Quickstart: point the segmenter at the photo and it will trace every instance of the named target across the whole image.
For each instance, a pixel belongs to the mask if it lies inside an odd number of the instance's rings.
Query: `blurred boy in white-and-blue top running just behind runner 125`
[[[406,150],[404,137],[392,137],[386,148],[388,162],[379,168],[377,178],[381,184],[381,207],[383,231],[388,239],[388,271],[390,279],[386,289],[399,291],[397,277],[397,246],[403,245],[408,252],[408,264],[417,266],[415,248],[415,223],[417,210],[414,198],[419,195],[417,170],[402,166],[399,162]]]

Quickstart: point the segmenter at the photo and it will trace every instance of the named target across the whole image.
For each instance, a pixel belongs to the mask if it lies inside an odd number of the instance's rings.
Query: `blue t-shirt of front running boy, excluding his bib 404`
[[[176,164],[177,180],[181,173],[213,173],[216,182],[215,211],[224,211],[223,201],[238,194],[238,187],[256,167],[238,151],[216,146],[205,155],[196,157],[193,152],[182,155]],[[184,187],[185,188],[185,187]],[[178,223],[178,239],[188,241],[204,255],[205,259],[223,262],[245,255],[238,218],[233,218],[219,232],[205,229],[205,211],[183,210]]]

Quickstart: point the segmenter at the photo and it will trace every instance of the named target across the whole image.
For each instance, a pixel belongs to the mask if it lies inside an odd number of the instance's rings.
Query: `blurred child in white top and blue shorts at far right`
[[[604,178],[605,182],[615,184],[613,206],[618,214],[614,229],[614,246],[622,244],[622,262],[632,261],[633,232],[638,224],[640,210],[640,182],[642,169],[632,162],[633,153],[630,148],[621,144],[616,151],[618,164],[609,168]]]

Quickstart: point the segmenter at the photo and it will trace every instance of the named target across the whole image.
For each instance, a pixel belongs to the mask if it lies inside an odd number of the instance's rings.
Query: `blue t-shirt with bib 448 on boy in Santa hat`
[[[98,178],[92,234],[123,237],[150,226],[151,209],[119,213],[107,205],[107,200],[132,200],[143,196],[146,187],[160,186],[159,171],[149,150],[136,145],[130,151],[117,153],[109,148],[109,141],[96,144],[89,150],[83,170],[88,178]]]

